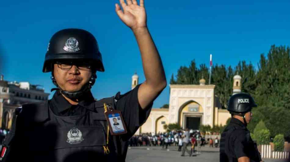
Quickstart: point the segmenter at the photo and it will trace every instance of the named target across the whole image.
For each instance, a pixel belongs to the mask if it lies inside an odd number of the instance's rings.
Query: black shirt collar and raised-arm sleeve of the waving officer
[[[123,135],[123,138],[127,140],[136,132],[138,127],[146,122],[153,105],[152,102],[147,108],[141,109],[138,101],[139,87],[140,84],[124,95],[117,93],[115,96],[117,100],[115,105],[116,109],[121,111],[127,126],[128,133],[125,136]],[[49,108],[58,116],[83,115],[87,111],[94,111],[94,105],[91,103],[95,102],[95,99],[92,93],[88,92],[84,96],[84,99],[78,105],[72,105],[61,95],[60,91],[56,91],[53,98],[49,101]]]

